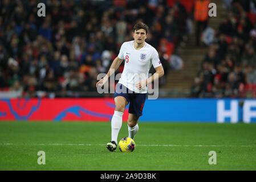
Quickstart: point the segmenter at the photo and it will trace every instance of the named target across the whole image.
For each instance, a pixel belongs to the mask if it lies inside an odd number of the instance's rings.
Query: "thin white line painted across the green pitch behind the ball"
[[[105,146],[105,144],[84,144],[84,143],[18,143],[23,145],[36,145],[36,146]],[[16,145],[14,143],[0,143],[0,145]],[[137,146],[148,147],[256,147],[254,146],[218,146],[218,145],[189,145],[189,144],[137,144]]]

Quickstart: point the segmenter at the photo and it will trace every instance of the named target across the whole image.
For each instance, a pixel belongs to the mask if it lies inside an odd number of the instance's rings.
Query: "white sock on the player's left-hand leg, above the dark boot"
[[[113,114],[113,117],[111,119],[111,140],[115,141],[116,144],[117,144],[117,136],[123,122],[123,114],[124,113],[115,110],[115,113]]]

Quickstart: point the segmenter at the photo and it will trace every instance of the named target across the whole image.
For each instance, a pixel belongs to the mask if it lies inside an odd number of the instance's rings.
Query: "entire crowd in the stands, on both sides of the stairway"
[[[37,15],[40,2],[46,5],[46,17]],[[226,17],[200,67],[194,67],[198,74],[186,97],[256,98],[256,11],[251,8],[256,3],[223,2]],[[166,88],[175,72],[170,56],[188,44],[194,0],[0,3],[1,92],[54,98],[111,96],[97,93],[97,75],[106,73],[121,44],[133,39],[137,22],[149,26],[147,42],[159,52],[165,71],[160,90]],[[117,73],[122,71],[123,64]]]

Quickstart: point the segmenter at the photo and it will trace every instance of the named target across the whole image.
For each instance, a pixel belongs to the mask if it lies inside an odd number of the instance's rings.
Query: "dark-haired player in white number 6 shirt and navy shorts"
[[[130,104],[127,121],[129,138],[135,138],[139,130],[137,123],[147,97],[147,85],[164,75],[158,52],[145,42],[148,36],[148,26],[144,23],[135,24],[132,36],[134,40],[122,44],[119,55],[113,60],[107,75],[96,84],[96,87],[103,86],[114,72],[113,70],[116,71],[125,60],[124,70],[114,94],[115,111],[111,120],[111,142],[107,143],[109,151],[116,150],[117,136],[121,129],[125,106],[128,104]],[[148,77],[152,65],[156,72]]]

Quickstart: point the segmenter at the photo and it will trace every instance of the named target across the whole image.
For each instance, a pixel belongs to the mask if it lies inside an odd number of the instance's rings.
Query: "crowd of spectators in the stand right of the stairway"
[[[224,2],[226,17],[202,60],[190,96],[256,98],[256,2]]]

